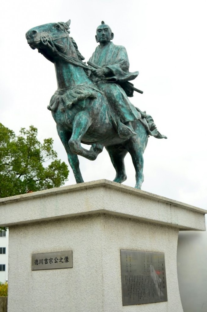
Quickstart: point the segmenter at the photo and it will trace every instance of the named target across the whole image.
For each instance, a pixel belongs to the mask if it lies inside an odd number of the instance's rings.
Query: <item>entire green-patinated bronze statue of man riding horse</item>
[[[150,115],[136,108],[128,97],[136,89],[129,82],[139,72],[129,72],[124,46],[111,41],[114,34],[103,21],[96,30],[99,43],[88,65],[69,36],[70,20],[31,28],[26,39],[55,65],[58,89],[50,100],[58,135],[68,155],[68,162],[77,183],[83,178],[78,156],[95,160],[103,147],[116,170],[115,182],[126,180],[124,157],[131,154],[136,171],[135,188],[144,181],[143,153],[149,135],[162,139]],[[91,145],[90,149],[81,143]]]

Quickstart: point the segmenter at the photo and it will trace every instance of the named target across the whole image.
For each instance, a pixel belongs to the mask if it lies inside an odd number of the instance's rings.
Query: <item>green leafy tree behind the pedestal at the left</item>
[[[0,123],[0,197],[59,187],[68,166],[57,158],[53,139],[37,139],[37,128],[22,128],[18,136]]]

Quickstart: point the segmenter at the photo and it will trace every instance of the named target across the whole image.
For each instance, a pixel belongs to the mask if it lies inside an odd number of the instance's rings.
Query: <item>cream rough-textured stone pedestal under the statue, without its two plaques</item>
[[[8,312],[182,312],[177,239],[205,210],[100,180],[0,199],[9,227]],[[162,252],[168,301],[122,303],[120,250]],[[32,254],[73,252],[73,267],[31,270]]]

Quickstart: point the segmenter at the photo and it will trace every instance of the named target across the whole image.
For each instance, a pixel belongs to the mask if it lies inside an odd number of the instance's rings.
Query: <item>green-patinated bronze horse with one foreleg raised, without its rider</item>
[[[117,134],[107,98],[88,77],[92,68],[82,62],[83,56],[69,37],[69,25],[70,21],[34,27],[26,33],[26,38],[32,49],[37,48],[55,65],[58,89],[48,109],[57,124],[76,182],[84,182],[77,155],[95,160],[105,147],[116,170],[114,181],[118,183],[127,178],[124,157],[127,152],[131,154],[136,171],[135,188],[140,189],[144,181],[143,153],[150,130],[138,119],[132,122],[136,135],[126,139]],[[84,149],[81,143],[91,148]]]

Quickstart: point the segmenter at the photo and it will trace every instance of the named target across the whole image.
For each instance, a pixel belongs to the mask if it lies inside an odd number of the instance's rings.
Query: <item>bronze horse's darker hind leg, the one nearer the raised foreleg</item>
[[[123,147],[123,145],[113,145],[107,146],[105,148],[109,153],[111,162],[116,170],[116,177],[114,178],[114,182],[124,182],[127,179],[124,166],[124,157],[127,154],[127,150]]]

